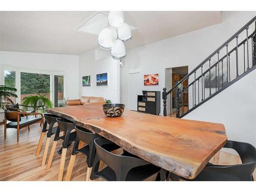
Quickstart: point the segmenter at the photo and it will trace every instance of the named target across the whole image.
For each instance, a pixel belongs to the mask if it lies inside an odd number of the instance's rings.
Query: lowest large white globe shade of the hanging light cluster
[[[116,60],[122,60],[126,56],[126,48],[123,41],[120,39],[115,40],[114,46],[111,49],[111,55]]]

